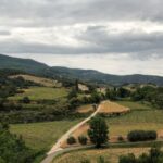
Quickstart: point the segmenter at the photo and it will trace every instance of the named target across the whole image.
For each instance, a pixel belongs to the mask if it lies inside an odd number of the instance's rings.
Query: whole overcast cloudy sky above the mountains
[[[0,53],[163,76],[162,0],[0,0]]]

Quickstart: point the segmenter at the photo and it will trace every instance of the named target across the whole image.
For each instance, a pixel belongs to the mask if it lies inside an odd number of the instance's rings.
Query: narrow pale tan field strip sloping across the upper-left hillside
[[[25,80],[29,80],[29,82],[34,82],[36,84],[40,84],[42,86],[46,87],[61,87],[61,83],[58,83],[57,80],[52,80],[52,79],[48,79],[48,78],[43,78],[43,77],[37,77],[37,76],[33,76],[33,75],[13,75],[10,76],[11,78],[16,78],[16,77],[23,77]]]

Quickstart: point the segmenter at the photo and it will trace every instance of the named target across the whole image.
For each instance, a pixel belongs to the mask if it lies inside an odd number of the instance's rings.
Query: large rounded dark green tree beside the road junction
[[[109,140],[109,130],[104,118],[96,116],[90,121],[89,125],[90,129],[88,130],[88,136],[96,148],[100,148],[102,145],[106,143]]]

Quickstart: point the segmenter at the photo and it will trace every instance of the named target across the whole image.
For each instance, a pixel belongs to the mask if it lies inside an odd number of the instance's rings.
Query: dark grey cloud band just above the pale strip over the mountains
[[[80,47],[45,45],[8,39],[0,42],[3,53],[53,53],[53,54],[100,54],[128,53],[135,59],[163,57],[163,33],[125,32],[110,33],[104,26],[90,26],[75,36],[83,41]]]

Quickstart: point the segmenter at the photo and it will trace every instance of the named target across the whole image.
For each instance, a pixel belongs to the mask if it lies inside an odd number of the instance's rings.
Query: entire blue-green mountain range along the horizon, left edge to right
[[[92,70],[67,68],[61,66],[50,67],[43,63],[29,60],[11,58],[0,54],[0,68],[21,70],[27,73],[33,73],[49,77],[60,77],[67,79],[80,79],[84,82],[123,85],[123,84],[155,84],[163,86],[163,77],[152,75],[111,75]]]

